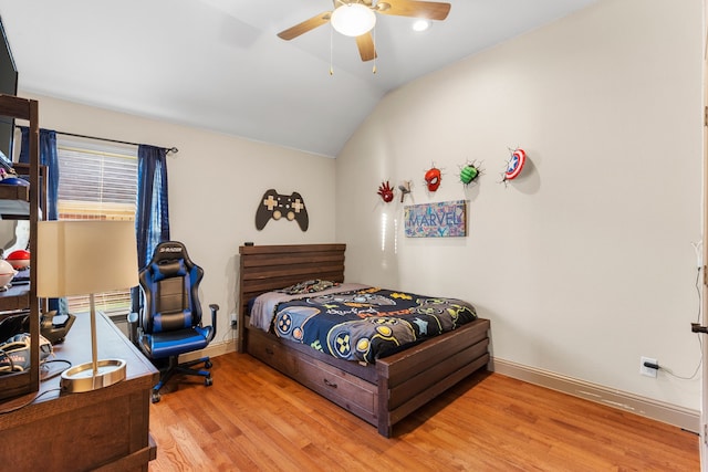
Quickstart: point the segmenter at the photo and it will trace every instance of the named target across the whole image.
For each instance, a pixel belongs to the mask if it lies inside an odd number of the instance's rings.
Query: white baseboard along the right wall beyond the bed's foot
[[[490,370],[529,384],[673,424],[687,431],[695,433],[700,431],[700,411],[697,410],[677,407],[499,358],[493,358],[490,361]]]

